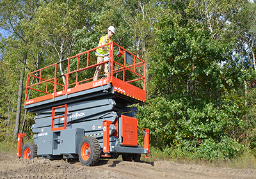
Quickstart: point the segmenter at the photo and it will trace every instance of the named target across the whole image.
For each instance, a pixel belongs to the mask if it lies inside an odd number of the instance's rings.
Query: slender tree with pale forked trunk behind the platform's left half
[[[48,56],[62,61],[71,55],[75,43],[74,31],[81,29],[86,21],[87,6],[92,1],[44,1],[36,14],[35,31],[49,45]],[[65,74],[60,63],[60,73]],[[62,76],[66,84],[65,76]]]

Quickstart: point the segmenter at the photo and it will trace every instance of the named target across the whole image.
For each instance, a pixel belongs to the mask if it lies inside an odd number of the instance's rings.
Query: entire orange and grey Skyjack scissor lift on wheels
[[[95,64],[95,50],[106,45],[110,45],[107,60]],[[149,130],[143,129],[142,148],[137,141],[138,109],[131,107],[146,99],[145,61],[115,42],[106,45],[28,74],[25,108],[36,114],[31,127],[35,143],[21,149],[24,134],[19,134],[18,157],[79,158],[84,166],[93,166],[100,157],[116,159],[122,155],[124,160],[139,161],[141,153],[148,156]],[[114,47],[119,49],[116,56]],[[81,61],[83,65],[86,61],[83,67]],[[83,79],[83,73],[104,63],[109,66],[108,77]],[[66,66],[67,73],[61,75],[58,65]],[[54,76],[49,75],[53,71]],[[29,94],[34,98],[29,99]]]

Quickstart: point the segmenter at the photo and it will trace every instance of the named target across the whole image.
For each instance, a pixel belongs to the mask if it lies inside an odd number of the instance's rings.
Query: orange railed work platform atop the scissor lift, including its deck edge
[[[110,46],[106,61],[97,64],[95,50],[106,45]],[[102,70],[99,80],[93,81],[95,67],[103,64],[108,64],[108,77]],[[82,52],[29,73],[25,106],[109,84],[118,97],[145,102],[145,61],[115,42]]]

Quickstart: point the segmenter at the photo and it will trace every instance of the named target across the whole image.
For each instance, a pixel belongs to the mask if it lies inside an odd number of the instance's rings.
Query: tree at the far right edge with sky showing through
[[[237,70],[242,84],[237,89],[240,90],[239,97],[241,98],[241,111],[243,111],[243,120],[246,124],[244,133],[241,135],[241,142],[246,146],[246,150],[253,150],[255,153],[255,42],[256,42],[256,4],[255,2],[246,2],[242,8],[236,13],[230,23],[230,34],[237,39],[235,48],[235,58],[237,59]],[[246,18],[244,18],[246,17]],[[228,63],[232,63],[231,61]],[[231,71],[231,70],[230,70]],[[232,74],[232,79],[237,79],[237,74]],[[231,74],[231,72],[230,72]],[[237,81],[234,80],[234,84]]]

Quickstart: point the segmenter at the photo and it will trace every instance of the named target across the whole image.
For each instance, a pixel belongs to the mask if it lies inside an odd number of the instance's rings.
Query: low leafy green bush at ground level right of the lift
[[[243,128],[239,108],[223,100],[222,109],[204,102],[192,105],[186,98],[148,100],[138,106],[140,128],[150,129],[150,145],[168,150],[168,155],[191,159],[234,158],[243,152],[237,136]],[[168,149],[166,149],[168,148]]]

